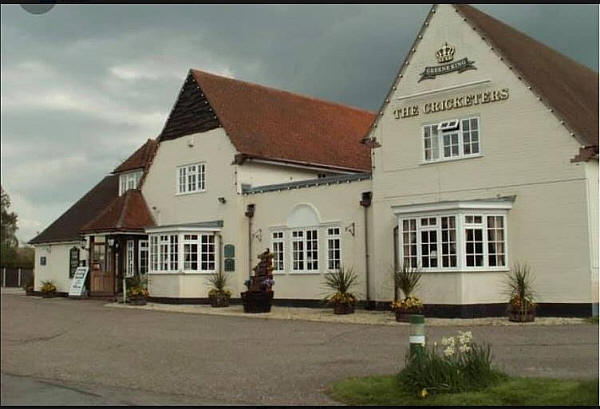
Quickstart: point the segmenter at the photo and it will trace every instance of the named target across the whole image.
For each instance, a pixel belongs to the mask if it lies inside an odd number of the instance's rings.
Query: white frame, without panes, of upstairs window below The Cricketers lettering
[[[470,121],[472,119],[476,119],[477,120],[477,143],[478,143],[478,147],[479,147],[479,151],[476,153],[468,153],[465,154],[465,146],[464,146],[464,134],[463,134],[463,121]],[[440,128],[440,124],[442,123],[448,123],[451,122],[453,120],[457,120],[458,121],[458,128],[456,130],[451,130],[451,131],[447,131],[447,132],[442,132],[439,130]],[[426,127],[432,127],[433,125],[437,125],[437,157],[436,155],[433,155],[432,153],[432,158],[433,159],[426,159],[426,155],[425,155],[425,128]],[[469,132],[471,132],[472,130],[469,129]],[[457,133],[458,134],[458,155],[454,155],[452,156],[452,152],[450,152],[450,156],[445,157],[444,156],[444,135],[450,135],[453,133]],[[433,141],[433,137],[430,137],[431,140],[431,146],[433,147],[434,145],[434,141]],[[470,140],[470,139],[469,139]],[[472,145],[472,144],[471,144]],[[432,149],[432,148],[430,148]],[[465,117],[452,117],[452,118],[447,118],[441,121],[437,121],[437,122],[427,122],[421,125],[421,162],[423,164],[428,164],[428,163],[437,163],[437,162],[447,162],[447,161],[453,161],[453,160],[459,160],[459,159],[466,159],[466,158],[476,158],[479,156],[483,156],[483,149],[482,149],[482,144],[481,144],[481,116],[480,115],[469,115],[469,116],[465,116]]]

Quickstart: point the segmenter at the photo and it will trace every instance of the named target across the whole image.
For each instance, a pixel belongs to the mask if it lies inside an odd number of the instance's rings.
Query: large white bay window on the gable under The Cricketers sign
[[[400,262],[423,271],[506,270],[511,200],[393,206]]]

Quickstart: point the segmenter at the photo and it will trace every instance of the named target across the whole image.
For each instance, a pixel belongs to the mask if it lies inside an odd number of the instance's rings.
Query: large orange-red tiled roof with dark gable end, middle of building
[[[364,171],[372,112],[190,70],[159,141],[222,126],[245,158]]]

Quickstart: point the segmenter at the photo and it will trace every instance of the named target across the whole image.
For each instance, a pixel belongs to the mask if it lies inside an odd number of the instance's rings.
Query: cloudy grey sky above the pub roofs
[[[478,7],[598,70],[597,5]],[[2,5],[2,186],[18,237],[154,138],[189,68],[376,110],[429,8]]]

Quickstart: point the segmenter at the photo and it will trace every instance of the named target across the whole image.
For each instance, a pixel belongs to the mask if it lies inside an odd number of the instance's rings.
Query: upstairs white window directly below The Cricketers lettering
[[[425,162],[481,155],[479,118],[447,119],[423,126]]]

